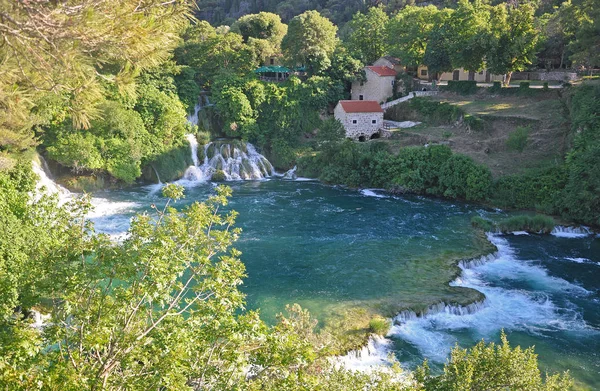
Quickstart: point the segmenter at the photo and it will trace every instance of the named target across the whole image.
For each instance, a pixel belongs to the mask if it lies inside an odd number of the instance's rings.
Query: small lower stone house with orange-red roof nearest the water
[[[333,110],[335,119],[346,129],[346,137],[366,141],[379,135],[383,127],[383,109],[374,100],[341,100]]]

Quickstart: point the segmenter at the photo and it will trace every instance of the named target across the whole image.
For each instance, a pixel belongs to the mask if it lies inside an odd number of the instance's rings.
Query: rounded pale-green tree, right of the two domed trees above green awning
[[[336,33],[337,27],[317,11],[294,17],[281,42],[286,61],[291,66],[306,66],[309,74],[328,68],[337,46]]]

